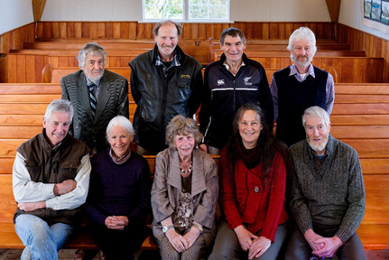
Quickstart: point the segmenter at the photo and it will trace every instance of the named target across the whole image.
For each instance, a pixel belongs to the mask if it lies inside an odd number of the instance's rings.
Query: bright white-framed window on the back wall
[[[228,22],[229,0],[144,0],[144,21]]]

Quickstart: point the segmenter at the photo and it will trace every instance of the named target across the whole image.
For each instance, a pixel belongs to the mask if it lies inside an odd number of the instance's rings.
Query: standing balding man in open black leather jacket
[[[157,154],[167,148],[165,129],[177,115],[193,116],[201,102],[202,66],[177,45],[180,23],[163,20],[153,28],[153,50],[129,62],[137,153]]]

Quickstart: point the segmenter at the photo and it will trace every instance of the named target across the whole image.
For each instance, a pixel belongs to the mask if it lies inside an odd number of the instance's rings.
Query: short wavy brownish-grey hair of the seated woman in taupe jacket
[[[175,136],[176,135],[190,135],[195,139],[195,146],[202,140],[202,134],[199,132],[199,126],[196,121],[190,117],[182,115],[174,116],[171,122],[166,127],[166,144],[171,150],[176,149]]]

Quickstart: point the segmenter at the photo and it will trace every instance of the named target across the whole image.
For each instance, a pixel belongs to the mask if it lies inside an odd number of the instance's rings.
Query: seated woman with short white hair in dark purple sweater
[[[151,212],[152,181],[147,161],[130,150],[134,129],[125,116],[107,126],[111,148],[92,158],[87,213],[90,230],[106,259],[134,259]]]

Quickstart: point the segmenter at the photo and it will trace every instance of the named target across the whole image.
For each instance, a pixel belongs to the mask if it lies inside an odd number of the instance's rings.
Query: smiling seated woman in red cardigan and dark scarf
[[[220,163],[222,222],[209,259],[276,259],[287,238],[288,157],[257,103],[238,109]],[[288,166],[289,167],[289,166]]]

